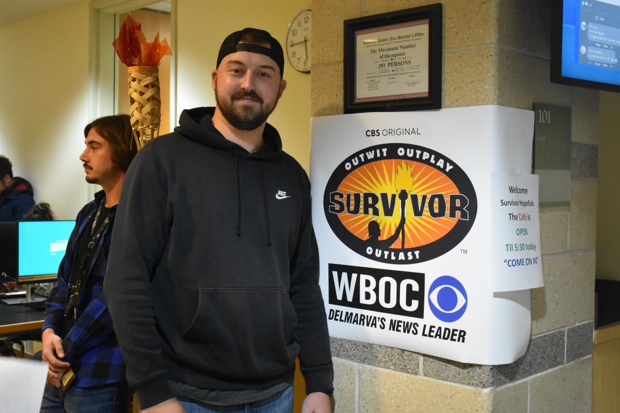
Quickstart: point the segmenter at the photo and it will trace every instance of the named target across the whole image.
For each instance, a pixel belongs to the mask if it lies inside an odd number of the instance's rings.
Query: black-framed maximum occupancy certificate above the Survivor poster
[[[345,21],[345,113],[440,107],[441,4]]]

